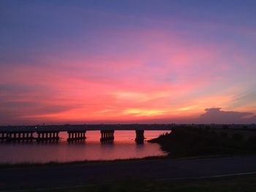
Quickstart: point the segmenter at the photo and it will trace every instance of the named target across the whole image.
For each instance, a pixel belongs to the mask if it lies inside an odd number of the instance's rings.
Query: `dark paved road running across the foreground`
[[[256,156],[247,156],[1,168],[0,191],[256,172],[255,162]]]

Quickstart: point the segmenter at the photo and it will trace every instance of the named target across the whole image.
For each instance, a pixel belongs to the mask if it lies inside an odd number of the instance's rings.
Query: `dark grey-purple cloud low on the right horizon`
[[[200,123],[256,123],[256,116],[252,112],[223,111],[221,108],[206,109],[200,115]]]

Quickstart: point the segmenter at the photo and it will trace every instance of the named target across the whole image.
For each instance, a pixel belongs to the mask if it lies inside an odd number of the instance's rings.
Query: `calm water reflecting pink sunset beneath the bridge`
[[[146,139],[158,137],[166,131],[145,131]],[[50,161],[91,161],[167,155],[156,143],[135,142],[135,131],[115,131],[112,144],[99,142],[99,131],[87,131],[85,142],[67,142],[67,132],[59,134],[59,142],[0,143],[0,164],[47,163]]]

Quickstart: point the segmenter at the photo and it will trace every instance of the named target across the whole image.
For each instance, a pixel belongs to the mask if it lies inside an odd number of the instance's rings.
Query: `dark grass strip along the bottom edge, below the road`
[[[172,191],[172,192],[250,192],[256,191],[256,175],[219,177],[195,180],[145,180],[124,183],[107,183],[102,185],[88,185],[78,188],[48,190],[59,192],[108,192],[108,191]]]

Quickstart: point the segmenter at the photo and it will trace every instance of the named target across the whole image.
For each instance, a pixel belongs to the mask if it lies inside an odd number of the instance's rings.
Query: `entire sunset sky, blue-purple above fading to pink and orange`
[[[256,1],[0,1],[0,125],[256,123]]]

